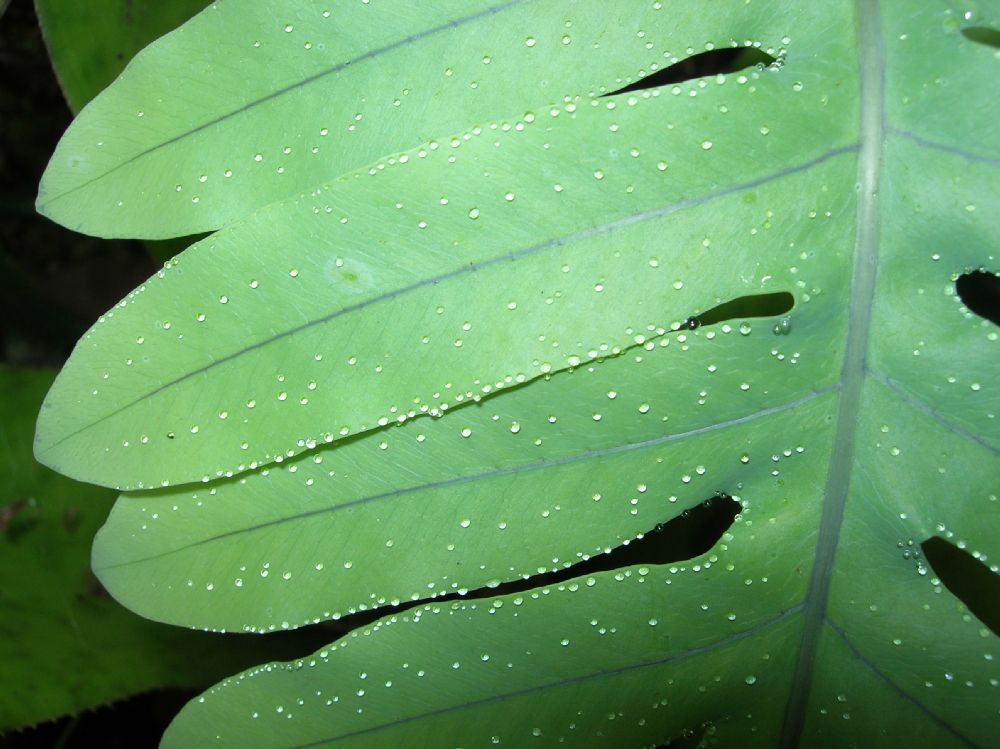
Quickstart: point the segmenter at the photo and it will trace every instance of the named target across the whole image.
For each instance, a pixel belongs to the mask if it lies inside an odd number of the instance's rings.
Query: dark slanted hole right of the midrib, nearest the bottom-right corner
[[[920,549],[944,586],[993,634],[1000,634],[1000,575],[939,536],[924,541]]]

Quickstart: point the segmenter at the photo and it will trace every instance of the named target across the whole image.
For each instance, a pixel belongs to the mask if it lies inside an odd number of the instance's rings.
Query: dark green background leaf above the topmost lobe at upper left
[[[207,0],[35,0],[70,109],[79,112],[118,77],[136,52],[206,5]]]

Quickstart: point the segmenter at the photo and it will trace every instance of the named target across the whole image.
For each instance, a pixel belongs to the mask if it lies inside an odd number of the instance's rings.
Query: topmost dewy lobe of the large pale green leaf
[[[603,10],[528,0],[434,0],[419,12],[213,4],[138,55],[74,122],[38,208],[100,236],[209,231],[432,137],[616,88],[662,64],[663,50],[637,36],[655,22],[651,7]],[[696,7],[683,17],[702,36],[729,38],[729,24],[710,28]]]

